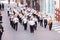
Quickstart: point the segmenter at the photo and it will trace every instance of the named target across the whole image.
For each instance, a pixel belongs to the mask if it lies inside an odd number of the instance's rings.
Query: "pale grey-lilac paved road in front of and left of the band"
[[[38,24],[38,28],[35,33],[29,32],[29,27],[27,31],[23,30],[23,25],[19,23],[18,31],[12,29],[9,24],[9,18],[6,12],[7,6],[5,6],[5,11],[3,14],[3,27],[4,33],[2,36],[2,40],[60,40],[60,33],[52,30],[49,31],[48,27],[45,29],[40,27]]]

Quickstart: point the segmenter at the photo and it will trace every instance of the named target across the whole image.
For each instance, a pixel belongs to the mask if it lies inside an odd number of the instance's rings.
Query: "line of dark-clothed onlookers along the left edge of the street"
[[[4,28],[3,28],[3,21],[2,21],[2,11],[4,10],[4,4],[3,3],[0,3],[0,40],[1,40],[1,37],[2,37],[2,34],[4,32]]]

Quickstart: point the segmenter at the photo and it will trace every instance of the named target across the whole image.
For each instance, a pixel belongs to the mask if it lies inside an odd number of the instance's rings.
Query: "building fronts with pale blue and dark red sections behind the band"
[[[55,15],[57,20],[59,19],[60,16],[60,13],[55,12],[56,11],[55,9],[60,10],[60,0],[6,0],[6,1],[15,3],[19,2],[23,4],[27,3],[29,7],[32,7],[37,11]]]

